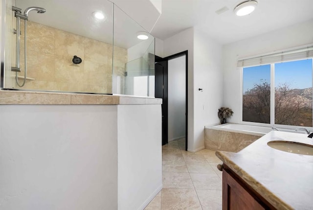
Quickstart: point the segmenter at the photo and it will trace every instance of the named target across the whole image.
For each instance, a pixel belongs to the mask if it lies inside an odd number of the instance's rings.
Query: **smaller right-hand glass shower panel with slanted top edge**
[[[154,97],[155,38],[116,5],[114,20],[113,93]]]

